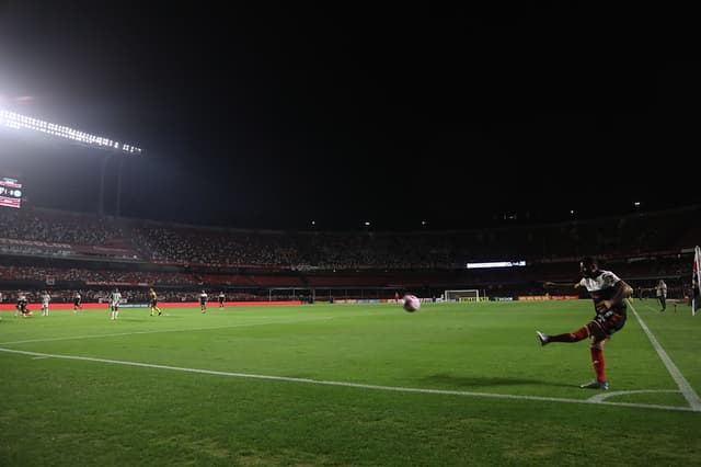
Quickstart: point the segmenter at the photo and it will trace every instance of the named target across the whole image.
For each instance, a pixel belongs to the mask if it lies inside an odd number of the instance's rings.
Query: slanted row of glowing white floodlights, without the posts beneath
[[[91,135],[68,126],[44,122],[42,119],[28,117],[4,109],[0,109],[0,126],[7,126],[13,129],[31,129],[33,132],[44,133],[46,135],[69,139],[83,145],[115,149],[129,155],[140,155],[142,152],[141,148],[134,145],[114,141],[110,138],[105,138],[104,136]]]

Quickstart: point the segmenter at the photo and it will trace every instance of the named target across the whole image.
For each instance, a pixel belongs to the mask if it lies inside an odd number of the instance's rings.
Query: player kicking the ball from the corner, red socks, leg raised
[[[600,270],[593,258],[585,258],[579,263],[582,280],[574,287],[585,287],[594,300],[596,315],[594,319],[574,332],[550,335],[536,331],[541,345],[551,342],[579,342],[589,338],[589,351],[596,379],[579,387],[586,389],[608,389],[604,364],[604,344],[611,339],[611,334],[620,331],[625,324],[625,298],[633,289],[611,271]],[[565,284],[547,282],[545,287],[560,287]],[[572,286],[572,284],[567,284]]]

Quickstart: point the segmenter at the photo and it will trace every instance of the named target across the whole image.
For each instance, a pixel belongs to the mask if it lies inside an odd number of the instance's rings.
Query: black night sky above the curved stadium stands
[[[0,107],[145,148],[126,217],[393,230],[701,202],[690,12],[103,3],[0,2]],[[0,134],[0,176],[91,209],[106,153],[58,146]]]

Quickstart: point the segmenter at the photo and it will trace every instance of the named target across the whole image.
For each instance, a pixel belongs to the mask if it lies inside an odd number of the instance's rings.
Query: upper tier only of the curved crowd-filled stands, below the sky
[[[134,251],[162,263],[297,265],[332,269],[459,267],[469,261],[540,261],[618,253],[634,255],[680,244],[700,229],[699,207],[552,225],[418,232],[284,232],[176,226],[42,209],[0,209],[0,252],[10,240],[25,254],[56,254],[57,244]],[[4,240],[4,242],[3,242]],[[688,241],[688,240],[686,240]],[[46,244],[51,244],[47,247]],[[3,247],[4,246],[4,247]],[[22,253],[22,251],[20,251]],[[107,253],[105,253],[107,254]]]

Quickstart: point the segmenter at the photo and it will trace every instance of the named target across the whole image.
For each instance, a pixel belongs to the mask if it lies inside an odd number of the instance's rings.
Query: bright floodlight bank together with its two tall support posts
[[[45,122],[43,119],[34,118],[31,116],[22,115],[16,112],[0,109],[0,126],[13,128],[19,132],[36,132],[49,137],[61,138],[67,143],[76,144],[89,148],[97,148],[107,150],[108,153],[102,161],[100,171],[100,205],[97,210],[100,215],[104,215],[104,192],[105,192],[105,172],[107,170],[107,162],[114,155],[118,156],[138,156],[143,150],[137,146],[115,141],[104,136],[92,135],[90,133],[80,132],[78,129],[59,125],[56,123]],[[124,166],[124,158],[119,160],[119,169],[117,173],[117,216],[119,215],[119,197],[122,194],[122,168]]]

